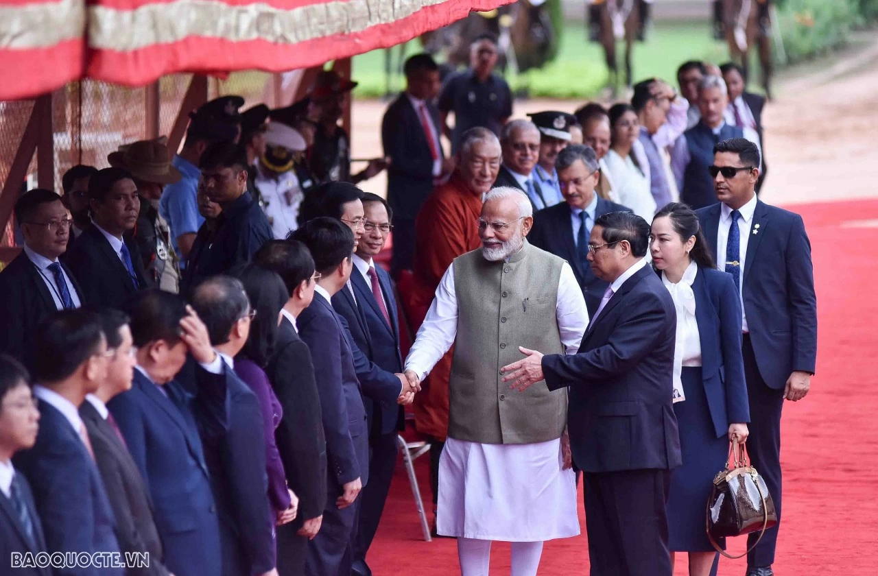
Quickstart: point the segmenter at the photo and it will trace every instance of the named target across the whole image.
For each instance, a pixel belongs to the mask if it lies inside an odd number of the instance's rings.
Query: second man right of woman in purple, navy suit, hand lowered
[[[330,300],[346,290],[354,234],[342,222],[315,218],[293,233],[311,251],[320,278],[313,302],[299,314],[299,335],[311,349],[327,441],[327,505],[308,546],[306,574],[348,574],[356,529],[355,500],[369,475],[369,438],[353,344]]]

